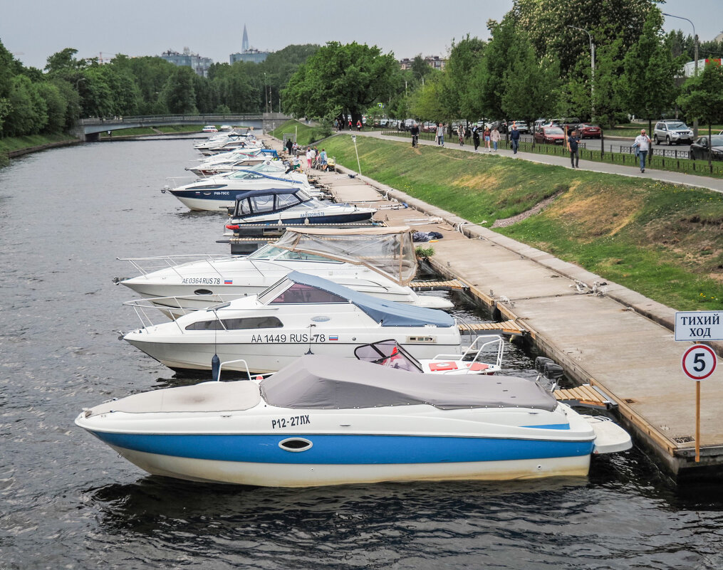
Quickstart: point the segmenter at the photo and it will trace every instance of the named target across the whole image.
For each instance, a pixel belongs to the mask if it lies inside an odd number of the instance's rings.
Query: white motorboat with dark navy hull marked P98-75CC
[[[166,187],[163,192],[170,192],[191,210],[228,212],[235,207],[236,198],[249,191],[275,192],[289,189],[302,189],[306,191],[304,198],[312,199],[309,197],[312,189],[306,174],[289,170],[275,160],[265,160],[225,176],[201,178],[176,188]],[[271,202],[273,205],[273,197]]]

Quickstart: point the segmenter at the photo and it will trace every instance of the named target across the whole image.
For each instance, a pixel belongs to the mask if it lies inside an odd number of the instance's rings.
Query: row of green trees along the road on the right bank
[[[445,123],[578,117],[612,126],[630,116],[702,120],[704,103],[723,112],[711,103],[723,93],[714,89],[716,66],[701,68],[707,82],[683,82],[693,38],[664,34],[663,21],[655,0],[515,0],[500,22],[487,22],[489,40],[455,38],[441,72],[421,56],[401,70],[376,46],[330,42],[299,66],[282,98],[296,116],[354,124],[367,114]],[[698,51],[721,57],[723,45]],[[703,85],[713,90],[693,106]]]

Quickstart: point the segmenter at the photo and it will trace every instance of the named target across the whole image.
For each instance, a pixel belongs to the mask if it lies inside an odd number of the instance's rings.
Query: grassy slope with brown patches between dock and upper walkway
[[[356,165],[350,137],[324,144]],[[496,231],[678,310],[723,308],[722,194],[367,137],[357,146],[364,175],[487,227],[559,193]]]

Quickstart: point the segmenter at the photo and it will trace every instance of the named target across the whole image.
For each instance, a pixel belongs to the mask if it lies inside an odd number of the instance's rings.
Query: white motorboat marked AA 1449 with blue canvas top
[[[268,373],[305,353],[354,358],[358,345],[388,338],[418,359],[461,352],[456,321],[444,311],[382,301],[299,272],[260,295],[162,324],[153,324],[147,309],[158,307],[150,301],[126,304],[145,327],[124,340],[175,371],[210,370],[218,355],[222,362],[243,358],[252,372]]]

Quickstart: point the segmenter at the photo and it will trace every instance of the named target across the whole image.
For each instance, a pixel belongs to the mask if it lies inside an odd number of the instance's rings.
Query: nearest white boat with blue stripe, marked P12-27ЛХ
[[[75,423],[153,475],[273,487],[584,476],[591,454],[631,446],[527,379],[320,355],[260,381],[111,400]]]

